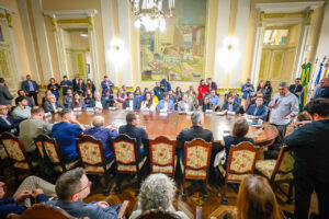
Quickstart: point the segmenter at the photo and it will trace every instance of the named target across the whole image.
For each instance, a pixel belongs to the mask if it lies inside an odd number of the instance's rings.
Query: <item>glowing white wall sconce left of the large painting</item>
[[[115,38],[111,42],[111,48],[109,50],[109,57],[112,64],[120,68],[128,58],[128,53],[125,49],[123,41]]]

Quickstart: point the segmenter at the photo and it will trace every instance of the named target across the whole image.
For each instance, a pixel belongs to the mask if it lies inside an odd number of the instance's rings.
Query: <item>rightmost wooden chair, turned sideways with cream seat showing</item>
[[[294,163],[295,160],[287,147],[282,147],[276,160],[258,160],[256,162],[256,171],[269,180],[273,191],[276,186],[281,189],[279,186],[281,183],[290,183],[288,194],[283,193],[287,196],[288,203],[292,201]]]

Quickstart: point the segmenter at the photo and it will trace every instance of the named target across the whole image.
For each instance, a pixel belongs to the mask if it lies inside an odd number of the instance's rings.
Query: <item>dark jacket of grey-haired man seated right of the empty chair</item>
[[[208,129],[203,129],[201,126],[192,126],[191,128],[181,130],[177,140],[184,143],[185,141],[191,141],[195,138],[201,138],[208,142],[214,141],[213,132]]]

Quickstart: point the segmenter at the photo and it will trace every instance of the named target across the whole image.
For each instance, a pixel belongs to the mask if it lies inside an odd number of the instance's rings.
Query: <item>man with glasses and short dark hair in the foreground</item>
[[[90,194],[91,184],[82,168],[67,171],[56,181],[58,200],[47,201],[46,205],[60,207],[76,218],[116,219],[120,205],[109,206],[106,201],[89,204],[83,201]]]

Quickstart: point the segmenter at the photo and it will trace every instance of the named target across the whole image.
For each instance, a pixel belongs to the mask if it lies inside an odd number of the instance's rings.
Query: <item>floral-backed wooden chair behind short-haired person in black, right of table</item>
[[[223,205],[227,205],[227,184],[240,184],[245,176],[253,173],[258,152],[259,148],[247,141],[230,147],[226,170],[219,165],[219,171],[225,178],[222,194]]]

